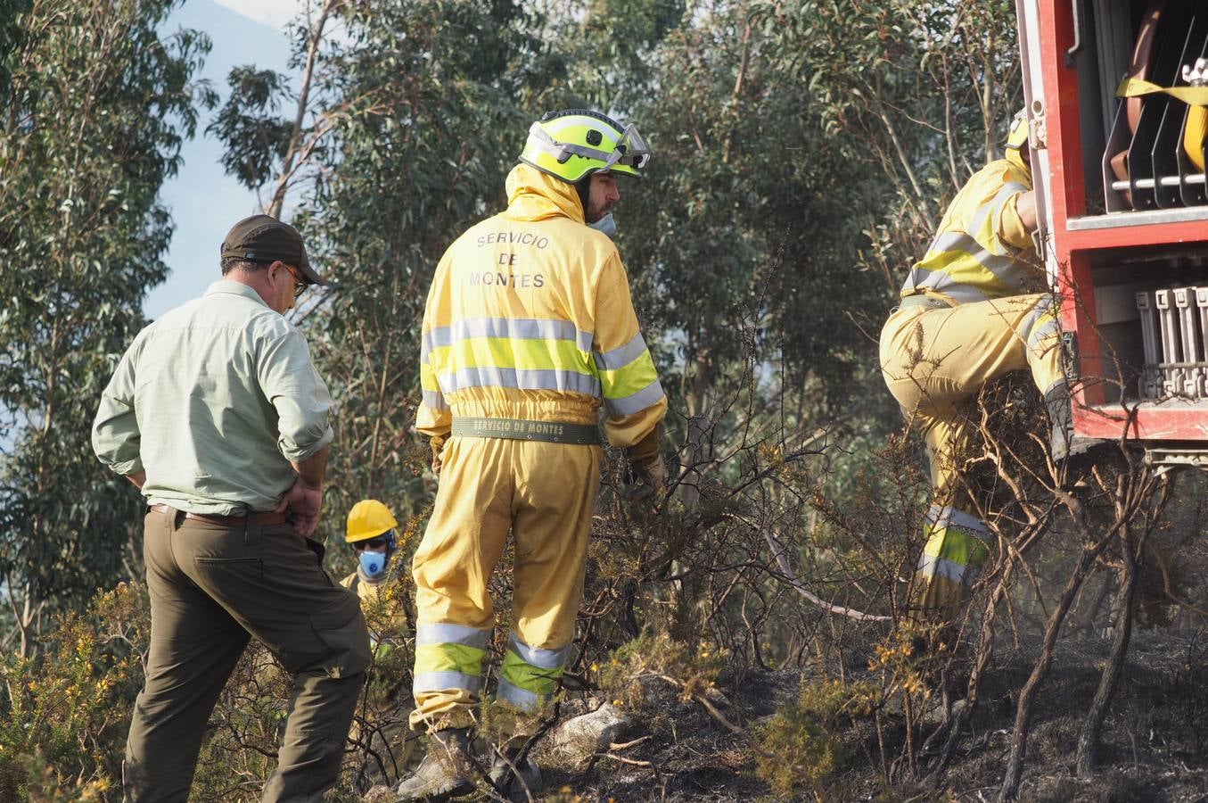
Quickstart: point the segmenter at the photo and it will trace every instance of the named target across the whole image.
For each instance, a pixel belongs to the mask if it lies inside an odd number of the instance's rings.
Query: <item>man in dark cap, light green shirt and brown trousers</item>
[[[331,397],[283,316],[323,283],[298,232],[239,221],[223,279],[138,334],[101,394],[93,449],[147,499],[146,684],[126,745],[128,801],[185,803],[202,734],[251,636],[294,675],[263,801],[335,785],[370,663],[355,594],[323,570]]]

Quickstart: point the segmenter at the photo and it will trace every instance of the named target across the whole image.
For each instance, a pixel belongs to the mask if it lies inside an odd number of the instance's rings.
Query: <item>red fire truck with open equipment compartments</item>
[[[1208,0],[1016,0],[1074,428],[1208,467]]]

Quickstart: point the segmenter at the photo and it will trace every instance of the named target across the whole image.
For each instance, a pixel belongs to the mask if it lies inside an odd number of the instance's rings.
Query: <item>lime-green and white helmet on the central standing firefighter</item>
[[[521,161],[571,184],[592,173],[640,177],[650,161],[646,140],[591,109],[548,111],[529,128]]]

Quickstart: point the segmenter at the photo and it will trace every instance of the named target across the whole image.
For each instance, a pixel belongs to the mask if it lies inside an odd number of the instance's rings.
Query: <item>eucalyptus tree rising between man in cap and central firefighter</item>
[[[214,128],[227,168],[249,186],[288,180],[286,208],[332,282],[300,316],[337,402],[329,535],[359,498],[401,515],[425,503],[411,423],[428,284],[461,230],[506,203],[532,109],[564,73],[542,24],[518,1],[327,0],[295,27],[304,100],[255,68],[232,74],[240,92]],[[304,120],[292,163],[291,100]]]

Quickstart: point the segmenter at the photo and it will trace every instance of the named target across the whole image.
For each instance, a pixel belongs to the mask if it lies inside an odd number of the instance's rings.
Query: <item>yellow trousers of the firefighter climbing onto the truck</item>
[[[881,331],[885,385],[922,433],[931,468],[933,507],[919,560],[918,613],[953,619],[988,554],[988,531],[958,499],[970,399],[991,380],[1028,369],[1047,393],[1065,381],[1057,308],[1049,294],[956,307],[905,306]],[[958,507],[959,506],[959,507]]]

